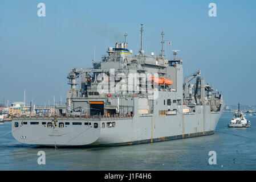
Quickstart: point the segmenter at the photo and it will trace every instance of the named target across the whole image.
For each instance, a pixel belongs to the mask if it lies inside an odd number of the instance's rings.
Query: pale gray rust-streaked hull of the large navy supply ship
[[[181,107],[176,115],[135,114],[128,118],[91,120],[58,118],[56,127],[43,125],[51,122],[50,118],[14,119],[12,133],[22,143],[55,147],[100,147],[160,142],[214,134],[223,107],[218,112],[211,112],[209,106],[196,106],[194,113],[179,114],[182,112]],[[21,122],[27,124],[22,125]],[[67,122],[70,125],[66,125]],[[59,123],[64,123],[64,127],[60,128]]]

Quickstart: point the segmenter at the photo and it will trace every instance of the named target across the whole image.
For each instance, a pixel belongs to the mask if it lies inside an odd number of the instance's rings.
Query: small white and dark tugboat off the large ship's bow
[[[235,112],[233,119],[227,125],[228,127],[250,127],[250,121],[245,119],[245,115],[240,111],[240,104],[238,103],[238,112]]]

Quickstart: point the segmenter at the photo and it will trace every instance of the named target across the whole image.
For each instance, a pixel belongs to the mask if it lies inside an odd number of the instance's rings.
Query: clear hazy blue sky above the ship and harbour
[[[46,17],[37,5],[46,5]],[[217,17],[208,5],[217,5]],[[159,53],[161,30],[180,49],[184,74],[201,69],[227,104],[255,105],[256,1],[0,1],[0,96],[37,105],[66,99],[67,75],[92,67],[109,46],[124,40]]]

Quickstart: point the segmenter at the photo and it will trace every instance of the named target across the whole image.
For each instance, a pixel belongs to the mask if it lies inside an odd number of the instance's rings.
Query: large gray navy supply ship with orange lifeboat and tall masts
[[[200,71],[183,82],[178,51],[165,58],[164,31],[160,55],[145,54],[143,24],[140,31],[139,53],[127,49],[125,32],[125,41],[109,47],[100,62],[92,61],[93,68],[72,69],[67,103],[56,105],[54,116],[13,118],[14,138],[40,146],[92,147],[214,134],[225,106],[222,93],[214,92]]]

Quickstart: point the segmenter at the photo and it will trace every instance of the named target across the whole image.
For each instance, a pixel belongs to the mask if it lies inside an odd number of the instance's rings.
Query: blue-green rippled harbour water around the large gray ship
[[[256,116],[251,127],[228,128],[232,113],[222,114],[214,135],[132,146],[43,148],[18,143],[11,123],[0,125],[0,170],[256,170]],[[6,135],[3,135],[6,134]],[[39,165],[38,151],[46,153]],[[216,151],[217,164],[208,164]]]

